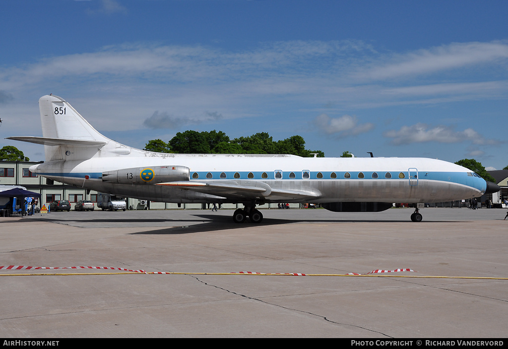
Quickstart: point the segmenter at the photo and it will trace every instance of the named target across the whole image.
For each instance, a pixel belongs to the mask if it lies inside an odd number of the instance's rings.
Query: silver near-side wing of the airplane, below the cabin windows
[[[272,188],[262,182],[247,182],[246,184],[237,184],[236,182],[168,182],[159,183],[163,185],[183,190],[192,190],[205,194],[222,196],[228,199],[241,198],[266,198],[269,200],[301,200],[313,199],[321,195],[310,190],[287,190]]]

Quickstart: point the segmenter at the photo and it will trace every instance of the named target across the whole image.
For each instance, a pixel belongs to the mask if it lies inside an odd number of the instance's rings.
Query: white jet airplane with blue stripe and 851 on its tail
[[[30,171],[98,192],[172,203],[240,203],[235,223],[261,223],[256,206],[320,203],[333,212],[380,212],[393,202],[478,197],[500,190],[470,169],[428,158],[304,158],[280,154],[168,154],[131,148],[94,129],[65,99],[39,99],[42,137],[8,137],[44,145],[46,161]]]

